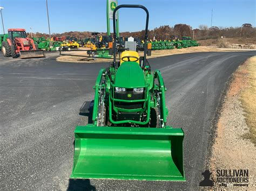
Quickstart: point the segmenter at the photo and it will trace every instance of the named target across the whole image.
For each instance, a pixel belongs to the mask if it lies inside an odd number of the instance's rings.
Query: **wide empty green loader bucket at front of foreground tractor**
[[[182,129],[88,124],[75,138],[70,178],[185,181]]]

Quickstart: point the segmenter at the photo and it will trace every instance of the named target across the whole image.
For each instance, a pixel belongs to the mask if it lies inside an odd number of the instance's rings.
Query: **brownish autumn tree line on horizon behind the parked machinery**
[[[53,37],[62,37],[70,36],[76,37],[78,39],[91,38],[91,33],[89,31],[79,32],[79,31],[70,31],[64,33],[52,33]],[[121,32],[120,36],[123,37],[138,37],[143,39],[145,31],[138,32]],[[30,33],[28,36],[30,37]],[[102,35],[106,35],[105,32],[102,32]],[[33,37],[49,37],[49,34],[46,33],[32,33]],[[215,39],[215,38],[256,38],[256,27],[252,27],[251,24],[243,24],[241,27],[217,27],[212,26],[208,28],[207,25],[199,25],[198,29],[192,29],[190,25],[186,24],[176,24],[173,27],[169,25],[156,27],[153,30],[149,30],[149,39],[171,39],[174,36],[181,38],[184,36],[194,37],[195,40],[204,40],[204,39]]]

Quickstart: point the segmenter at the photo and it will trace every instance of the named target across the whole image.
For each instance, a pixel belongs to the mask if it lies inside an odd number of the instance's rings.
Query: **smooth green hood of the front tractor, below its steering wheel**
[[[117,69],[114,86],[122,88],[139,88],[146,86],[142,68],[137,62],[123,62]]]

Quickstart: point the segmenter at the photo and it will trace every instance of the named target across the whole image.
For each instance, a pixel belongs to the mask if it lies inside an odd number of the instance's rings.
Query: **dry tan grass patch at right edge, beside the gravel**
[[[242,108],[245,111],[245,121],[250,131],[244,138],[250,139],[256,146],[256,56],[248,59],[248,87],[241,93]]]

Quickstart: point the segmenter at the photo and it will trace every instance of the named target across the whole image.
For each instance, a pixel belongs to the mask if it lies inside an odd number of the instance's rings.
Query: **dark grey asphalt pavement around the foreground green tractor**
[[[212,122],[234,70],[255,52],[190,53],[150,59],[167,88],[167,124],[183,128],[186,182],[69,180],[73,130],[93,99],[100,68],[109,63],[64,63],[4,58],[0,53],[0,189],[196,189],[210,151]]]

